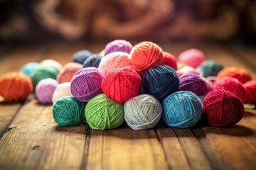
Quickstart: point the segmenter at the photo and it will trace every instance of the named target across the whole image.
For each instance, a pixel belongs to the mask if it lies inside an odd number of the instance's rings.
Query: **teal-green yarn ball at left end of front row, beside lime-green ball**
[[[58,98],[53,104],[53,118],[58,125],[74,126],[85,123],[85,103],[73,96]]]

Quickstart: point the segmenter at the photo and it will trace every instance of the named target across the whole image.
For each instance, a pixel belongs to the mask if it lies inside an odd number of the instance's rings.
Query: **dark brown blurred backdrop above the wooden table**
[[[256,41],[254,0],[0,0],[0,42]]]

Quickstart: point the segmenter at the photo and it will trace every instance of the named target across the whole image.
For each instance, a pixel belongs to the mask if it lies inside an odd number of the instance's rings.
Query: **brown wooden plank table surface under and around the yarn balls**
[[[104,43],[1,45],[0,75],[27,62],[65,64],[82,49],[100,52]],[[225,67],[245,67],[256,79],[256,48],[213,42],[162,43],[174,55],[190,47]],[[31,96],[25,103],[0,103],[0,169],[256,169],[256,111],[247,110],[232,128],[91,130],[60,127],[51,106]]]

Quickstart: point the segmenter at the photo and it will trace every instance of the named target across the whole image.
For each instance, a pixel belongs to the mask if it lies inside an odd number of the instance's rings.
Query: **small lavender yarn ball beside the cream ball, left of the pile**
[[[36,85],[36,98],[41,103],[52,103],[53,93],[58,85],[55,79],[42,79]]]

